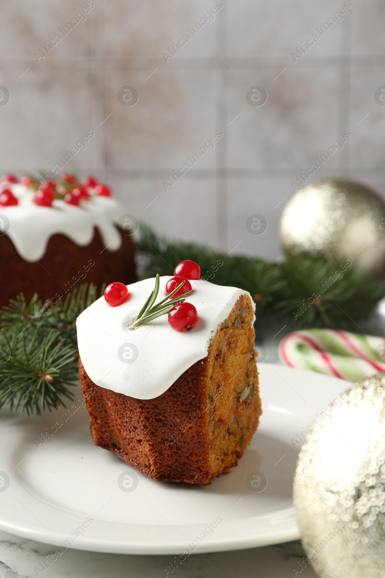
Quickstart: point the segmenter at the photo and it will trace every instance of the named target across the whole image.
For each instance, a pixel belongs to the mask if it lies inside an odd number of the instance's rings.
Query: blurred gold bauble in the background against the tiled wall
[[[351,260],[371,276],[385,270],[385,205],[353,181],[324,180],[298,190],[283,210],[279,235],[294,258]]]

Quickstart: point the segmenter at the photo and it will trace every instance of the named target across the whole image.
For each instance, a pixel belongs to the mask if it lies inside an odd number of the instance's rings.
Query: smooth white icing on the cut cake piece
[[[166,295],[168,276],[160,277],[156,302]],[[208,281],[191,281],[196,291],[187,301],[197,309],[199,321],[190,331],[174,331],[167,315],[129,331],[154,289],[155,278],[128,285],[128,301],[111,307],[104,297],[92,303],[77,318],[77,342],[84,369],[100,387],[137,399],[162,395],[190,366],[206,357],[211,338],[230,314],[241,295],[251,295],[236,287],[222,287]],[[123,362],[118,349],[133,344],[137,358]],[[128,346],[126,357],[135,349]],[[122,354],[120,354],[122,355]],[[133,355],[132,359],[136,357]]]

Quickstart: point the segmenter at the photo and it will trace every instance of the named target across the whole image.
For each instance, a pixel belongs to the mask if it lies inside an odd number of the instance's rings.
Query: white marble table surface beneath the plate
[[[271,327],[264,335],[256,336],[256,343],[268,362],[278,362],[279,340],[287,329]],[[266,355],[267,354],[267,355]],[[44,561],[57,550],[55,546],[33,542],[0,531],[0,578],[289,578],[306,572],[306,578],[316,576],[310,566],[301,565],[304,557],[301,543],[289,542],[249,550],[212,554],[195,554],[171,572],[173,556],[103,554],[68,549],[50,566]],[[169,574],[167,575],[167,572]]]

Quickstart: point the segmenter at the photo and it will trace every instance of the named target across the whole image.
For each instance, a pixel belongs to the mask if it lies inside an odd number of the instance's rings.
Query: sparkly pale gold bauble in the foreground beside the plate
[[[383,578],[385,372],[345,390],[312,426],[293,489],[308,560],[321,578]]]

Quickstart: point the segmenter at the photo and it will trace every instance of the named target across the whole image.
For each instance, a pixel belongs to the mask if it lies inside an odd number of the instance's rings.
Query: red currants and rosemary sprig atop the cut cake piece
[[[159,275],[156,276],[159,288]],[[192,293],[193,289],[190,281],[200,279],[200,268],[194,261],[181,261],[174,269],[174,276],[171,277],[166,283],[166,299],[163,299],[154,306],[154,309],[150,309],[151,305],[155,302],[155,297],[151,303],[151,299],[154,296],[154,291],[150,294],[147,302],[143,306],[141,313],[137,317],[137,325],[146,323],[145,317],[143,318],[143,323],[141,323],[140,315],[145,315],[148,310],[148,321],[160,317],[160,315],[166,314],[167,311],[162,309],[162,306],[167,308],[167,298],[173,297],[173,307],[168,311],[169,324],[175,331],[190,331],[198,320],[198,314],[196,307],[192,303],[187,303],[183,299],[178,301],[178,297],[182,297],[186,293]],[[183,285],[181,286],[181,284]],[[155,283],[156,287],[156,283]],[[178,288],[179,287],[179,288]],[[106,287],[104,291],[104,299],[111,307],[117,307],[125,303],[130,297],[130,292],[128,288],[123,283],[111,283]],[[164,305],[163,305],[164,303]],[[169,302],[170,303],[170,302]],[[147,307],[147,309],[146,309]],[[151,312],[153,311],[152,315]],[[134,328],[135,322],[132,325]]]

